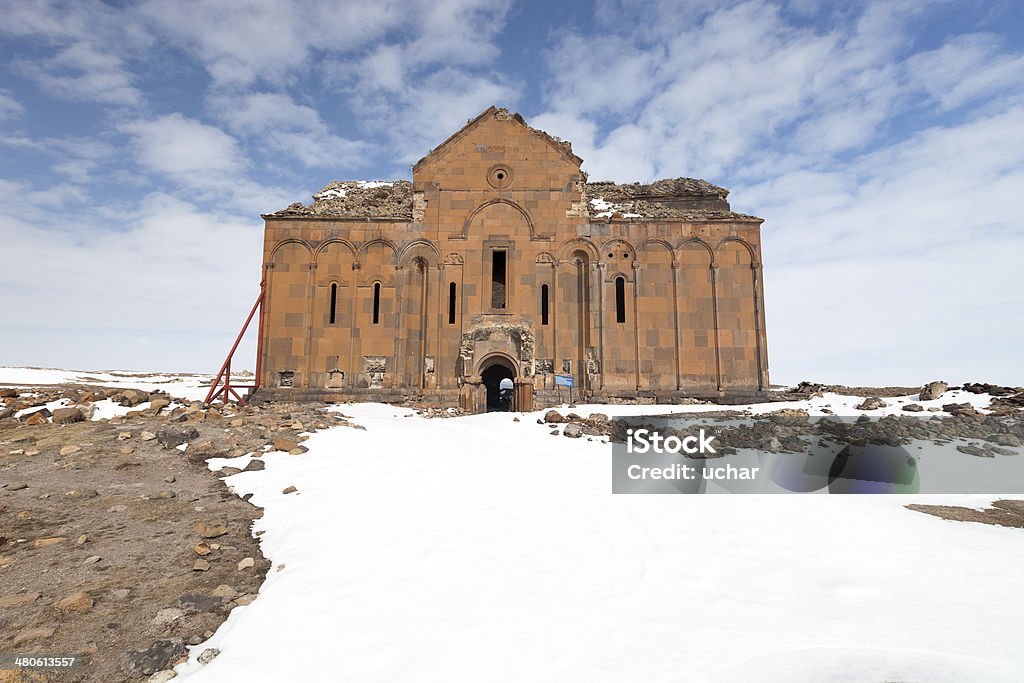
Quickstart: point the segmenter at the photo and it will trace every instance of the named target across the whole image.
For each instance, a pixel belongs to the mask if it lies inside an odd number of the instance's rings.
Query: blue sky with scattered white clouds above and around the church
[[[490,104],[762,228],[772,381],[1024,385],[1024,3],[0,0],[0,365],[210,371],[261,213]],[[252,368],[247,341],[234,367]]]

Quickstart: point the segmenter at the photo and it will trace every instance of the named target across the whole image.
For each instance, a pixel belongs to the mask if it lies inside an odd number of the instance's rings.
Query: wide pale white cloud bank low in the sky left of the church
[[[0,198],[45,200],[5,181]],[[4,362],[215,370],[258,293],[258,219],[163,193],[117,214],[40,208],[0,216],[18,255],[0,270],[0,334],[18,340]],[[252,356],[249,343],[239,357]]]

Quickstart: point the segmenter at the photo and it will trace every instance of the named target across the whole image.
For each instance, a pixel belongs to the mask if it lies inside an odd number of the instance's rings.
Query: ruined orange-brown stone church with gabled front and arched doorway
[[[762,219],[705,180],[589,182],[570,143],[492,106],[413,167],[263,216],[264,399],[482,412],[732,402],[768,387]]]

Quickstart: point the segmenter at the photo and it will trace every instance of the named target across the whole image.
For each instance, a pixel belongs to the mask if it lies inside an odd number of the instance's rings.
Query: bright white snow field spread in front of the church
[[[973,394],[936,403],[963,400],[988,403]],[[750,409],[818,413],[829,403],[851,415],[856,402],[826,395]],[[1024,531],[903,507],[981,507],[991,497],[612,496],[611,446],[551,436],[536,424],[540,413],[514,422],[510,414],[429,420],[381,404],[338,410],[366,430],[315,433],[308,453],[266,454],[265,470],[226,479],[265,508],[256,529],[274,568],[260,597],[195,647],[180,675],[1024,677]],[[208,647],[220,655],[199,665]]]

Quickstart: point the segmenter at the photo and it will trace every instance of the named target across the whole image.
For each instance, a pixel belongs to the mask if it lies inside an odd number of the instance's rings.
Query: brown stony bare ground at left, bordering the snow
[[[301,457],[303,432],[343,423],[323,407],[204,409],[130,389],[0,399],[0,653],[84,654],[61,672],[0,671],[4,682],[167,680],[272,570],[251,532],[261,511],[218,478],[237,470],[206,460]],[[109,400],[130,412],[88,419]]]

